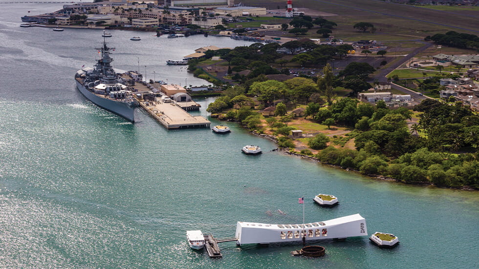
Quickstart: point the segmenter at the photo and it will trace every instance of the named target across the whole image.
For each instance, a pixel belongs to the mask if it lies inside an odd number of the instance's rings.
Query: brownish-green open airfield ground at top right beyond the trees
[[[276,9],[283,6],[284,0],[242,0],[245,5],[263,6]],[[300,5],[300,6],[299,6]],[[328,16],[327,19],[338,24],[333,29],[335,38],[345,41],[378,40],[397,41],[423,39],[427,35],[446,33],[454,30],[478,35],[478,18],[471,16],[451,16],[451,11],[418,8],[411,5],[396,4],[376,0],[303,0],[297,7],[309,8],[338,16]],[[459,11],[462,9],[459,9]],[[468,14],[475,14],[468,10]],[[453,14],[454,15],[454,14]],[[353,29],[357,22],[371,22],[377,29],[374,34],[358,32]],[[468,30],[469,29],[469,30]],[[309,33],[316,35],[317,29]]]

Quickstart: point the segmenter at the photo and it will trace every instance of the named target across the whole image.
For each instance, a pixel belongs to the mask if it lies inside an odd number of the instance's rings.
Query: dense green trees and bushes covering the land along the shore
[[[347,47],[308,41],[286,42],[282,47],[304,49],[289,62],[323,65],[322,76],[269,79],[269,75],[289,74],[284,68],[287,62],[276,52],[279,47],[254,43],[207,52],[207,57],[220,56],[228,63],[235,83],[207,111],[220,120],[238,121],[253,132],[274,136],[279,147],[322,163],[409,184],[479,188],[479,116],[469,108],[428,99],[414,108],[422,112],[418,115],[405,107],[390,109],[382,101],[372,105],[338,97],[334,94],[338,87],[349,89],[352,96],[369,89],[366,80],[375,69],[368,63],[351,62],[334,75],[327,61],[344,57]],[[200,61],[204,60],[191,62],[190,69]],[[244,70],[248,72],[239,73]],[[435,87],[437,80],[421,83]],[[269,112],[260,113],[268,107]],[[292,112],[298,107],[304,108],[304,115]],[[418,121],[412,122],[413,116]],[[293,140],[291,130],[306,122],[321,127]],[[344,133],[328,135],[338,128]]]

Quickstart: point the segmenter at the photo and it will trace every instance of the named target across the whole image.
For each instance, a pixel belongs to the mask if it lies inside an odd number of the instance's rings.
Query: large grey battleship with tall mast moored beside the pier
[[[103,46],[97,48],[101,59],[93,68],[78,70],[75,81],[80,92],[94,104],[113,112],[130,122],[134,122],[134,108],[138,102],[133,94],[136,92],[135,83],[141,83],[143,76],[139,72],[128,71],[117,73],[111,67],[113,59],[110,50],[103,39]]]

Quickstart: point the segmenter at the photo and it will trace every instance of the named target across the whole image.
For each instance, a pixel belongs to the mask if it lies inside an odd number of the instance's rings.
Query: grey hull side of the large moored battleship
[[[127,119],[128,121],[130,121],[132,123],[135,122],[134,109],[135,109],[135,106],[136,106],[136,102],[125,103],[125,102],[117,102],[117,101],[106,99],[106,98],[101,98],[101,97],[93,94],[89,90],[87,90],[85,88],[85,86],[82,85],[77,80],[75,80],[75,82],[77,83],[77,88],[80,90],[80,92],[88,100],[90,100],[94,104],[96,104],[96,105],[98,105],[98,106],[100,106],[100,107],[102,107],[102,108],[104,108],[104,109],[106,109],[110,112],[113,112],[113,113]]]

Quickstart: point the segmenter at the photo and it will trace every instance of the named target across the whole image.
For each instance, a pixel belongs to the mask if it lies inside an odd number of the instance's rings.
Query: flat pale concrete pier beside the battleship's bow
[[[201,116],[193,116],[175,103],[140,102],[156,121],[167,129],[209,127],[211,122]]]

